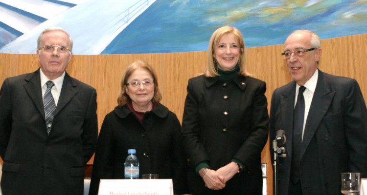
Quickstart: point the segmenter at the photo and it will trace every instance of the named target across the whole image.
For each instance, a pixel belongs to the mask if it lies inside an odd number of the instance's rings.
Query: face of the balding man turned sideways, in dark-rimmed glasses
[[[294,52],[298,49],[309,49],[311,45],[311,34],[307,31],[292,33],[284,43],[284,52]],[[287,60],[288,71],[298,85],[304,85],[315,73],[320,60],[321,49],[306,52],[304,56],[291,55]]]

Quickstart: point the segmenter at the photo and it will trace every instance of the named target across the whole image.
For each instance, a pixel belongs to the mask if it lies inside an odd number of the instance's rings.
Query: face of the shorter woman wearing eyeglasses
[[[143,81],[143,80],[154,80],[154,79],[152,75],[149,73],[149,71],[142,68],[136,69],[127,79],[128,82]],[[133,107],[136,111],[139,111],[140,110],[139,108],[151,109],[152,99],[154,96],[154,84],[145,86],[143,83],[140,83],[138,87],[127,85],[125,88],[125,92],[127,95],[129,95]]]

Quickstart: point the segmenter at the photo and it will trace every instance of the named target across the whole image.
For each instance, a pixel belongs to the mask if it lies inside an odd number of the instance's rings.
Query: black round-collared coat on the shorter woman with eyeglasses
[[[97,195],[99,179],[123,179],[128,149],[136,149],[139,176],[159,174],[172,178],[175,194],[186,193],[186,158],[181,125],[162,104],[146,112],[142,123],[125,106],[107,114],[98,137],[90,195]]]

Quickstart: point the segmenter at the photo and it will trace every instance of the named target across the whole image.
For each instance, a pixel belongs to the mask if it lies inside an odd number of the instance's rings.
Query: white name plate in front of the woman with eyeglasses
[[[172,179],[101,179],[98,195],[173,195]]]

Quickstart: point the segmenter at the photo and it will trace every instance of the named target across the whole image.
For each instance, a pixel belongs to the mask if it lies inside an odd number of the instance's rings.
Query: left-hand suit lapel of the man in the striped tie
[[[40,69],[29,74],[24,79],[26,81],[26,83],[24,84],[25,91],[27,92],[28,96],[32,99],[34,105],[37,107],[37,110],[40,112],[42,117],[46,118],[41,91]]]

